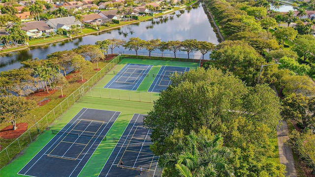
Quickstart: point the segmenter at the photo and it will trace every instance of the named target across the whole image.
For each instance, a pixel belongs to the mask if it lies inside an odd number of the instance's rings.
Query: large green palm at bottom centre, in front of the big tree
[[[223,147],[223,139],[216,134],[212,139],[197,136],[193,131],[177,145],[178,151],[160,156],[161,166],[176,169],[181,177],[233,176],[228,159],[231,149]]]

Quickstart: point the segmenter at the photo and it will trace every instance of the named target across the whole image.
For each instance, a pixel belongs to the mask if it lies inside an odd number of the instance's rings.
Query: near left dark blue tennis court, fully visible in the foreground
[[[83,108],[18,174],[77,177],[119,115],[116,111]]]

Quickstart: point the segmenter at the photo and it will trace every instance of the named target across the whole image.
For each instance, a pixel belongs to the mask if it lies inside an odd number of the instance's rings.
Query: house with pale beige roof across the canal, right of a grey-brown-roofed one
[[[74,16],[70,17],[62,17],[62,18],[55,18],[55,19],[49,19],[46,21],[46,24],[52,28],[52,29],[71,29],[72,25],[82,25],[82,23],[75,19]]]

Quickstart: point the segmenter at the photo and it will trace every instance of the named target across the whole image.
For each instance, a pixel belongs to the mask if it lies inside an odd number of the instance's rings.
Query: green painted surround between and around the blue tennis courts
[[[150,60],[150,59],[123,59],[118,63],[109,74],[102,78],[95,87],[102,88],[113,77],[113,71],[119,71],[125,66],[126,63],[137,64],[152,64],[154,65],[150,70],[150,77],[145,78],[138,90],[146,91],[149,89],[154,78],[152,74],[157,74],[161,66],[183,66],[196,69],[198,63],[192,62],[179,62],[179,61],[162,61],[162,60]],[[89,93],[89,91],[88,91]],[[57,118],[51,125],[51,129],[61,130],[63,126],[70,121],[82,108],[93,108],[108,111],[119,111],[120,116],[117,118],[113,126],[108,131],[106,138],[107,141],[102,141],[94,154],[83,168],[79,177],[97,177],[106,160],[109,158],[112,150],[115,148],[116,142],[113,142],[113,138],[121,137],[128,122],[132,116],[137,114],[147,114],[153,108],[153,103],[134,102],[118,99],[106,99],[96,98],[90,96],[81,97],[74,105],[68,109],[63,115]],[[27,148],[25,148],[14,160],[4,166],[0,170],[0,176],[2,177],[14,177],[20,176],[17,173],[39,152],[55,135],[50,130],[45,130],[38,138],[32,142]]]

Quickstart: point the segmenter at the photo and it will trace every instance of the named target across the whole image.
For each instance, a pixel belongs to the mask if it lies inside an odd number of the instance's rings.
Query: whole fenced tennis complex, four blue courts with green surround
[[[143,176],[161,177],[159,157],[149,148],[152,130],[143,126],[143,118],[153,109],[159,90],[148,90],[171,84],[164,83],[169,75],[195,69],[197,65],[121,60],[22,155],[3,167],[1,176],[134,177],[139,176],[141,167]],[[128,94],[123,95],[125,91]],[[106,96],[108,93],[110,96]],[[115,97],[116,93],[121,95]],[[146,99],[153,94],[153,99]],[[127,96],[129,99],[125,99]],[[133,101],[132,97],[141,100]]]

